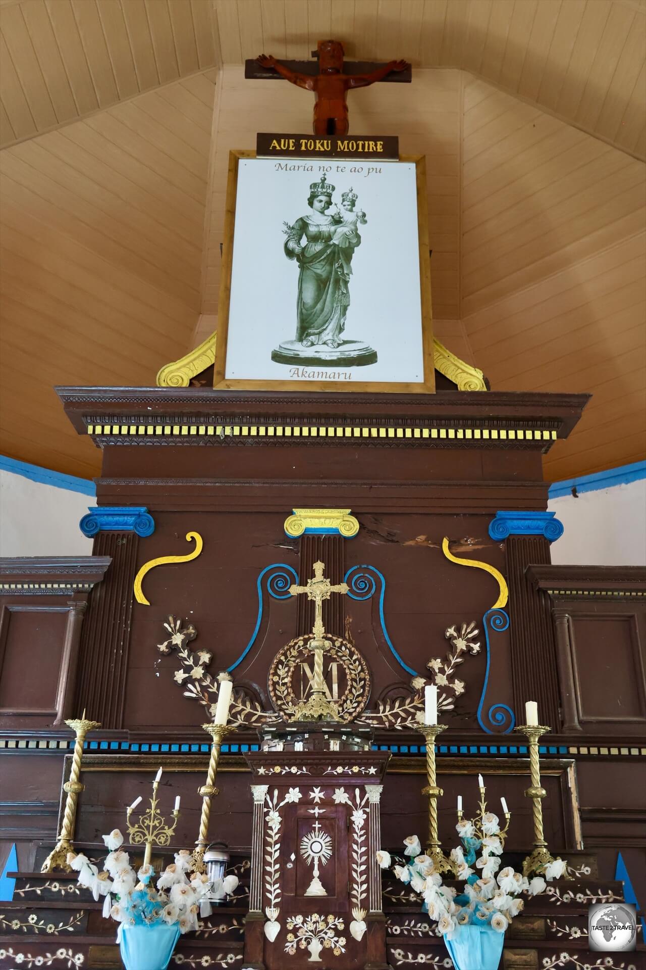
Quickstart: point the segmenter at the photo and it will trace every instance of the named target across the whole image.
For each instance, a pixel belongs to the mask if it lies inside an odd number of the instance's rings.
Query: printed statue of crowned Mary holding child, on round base
[[[377,363],[377,352],[346,336],[354,250],[361,243],[359,225],[367,223],[356,208],[352,188],[342,193],[341,209],[332,201],[335,186],[323,175],[312,182],[309,212],[284,223],[284,250],[298,267],[295,339],[271,353],[278,364],[358,367]]]

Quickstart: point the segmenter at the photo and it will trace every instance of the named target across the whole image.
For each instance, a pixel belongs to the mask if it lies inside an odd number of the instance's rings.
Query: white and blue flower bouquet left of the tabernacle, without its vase
[[[90,889],[97,902],[104,896],[104,917],[119,923],[117,943],[123,925],[176,923],[180,933],[199,929],[198,917],[208,917],[213,912],[209,895],[223,898],[238,884],[237,876],[218,880],[216,886],[200,873],[189,878],[191,854],[182,850],[175,854],[175,861],[167,866],[155,888],[155,871],[151,865],[142,865],[137,873],[131,867],[128,853],[121,848],[123,835],[118,828],[103,839],[109,850],[103,872],[82,853],[70,853],[67,861],[78,873],[79,886]]]

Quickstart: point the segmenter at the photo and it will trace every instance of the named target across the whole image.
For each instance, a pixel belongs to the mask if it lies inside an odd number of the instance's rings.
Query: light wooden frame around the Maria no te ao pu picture
[[[229,338],[229,313],[231,304],[231,271],[233,265],[233,235],[237,197],[238,162],[243,158],[256,158],[256,152],[232,149],[229,153],[229,176],[227,179],[227,203],[225,209],[224,240],[222,247],[222,274],[218,299],[218,339],[215,350],[213,387],[218,390],[243,391],[344,391],[389,392],[400,394],[435,391],[435,362],[433,348],[433,314],[431,307],[431,267],[428,242],[428,210],[426,196],[426,158],[424,155],[402,155],[400,162],[415,164],[417,197],[417,236],[419,248],[419,285],[421,307],[421,348],[423,381],[336,381],[336,380],[239,380],[226,377],[227,347]],[[396,165],[396,162],[389,162]]]

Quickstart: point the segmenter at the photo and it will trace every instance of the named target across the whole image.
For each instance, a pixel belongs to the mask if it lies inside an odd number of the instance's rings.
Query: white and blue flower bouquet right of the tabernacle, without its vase
[[[545,880],[559,879],[563,875],[560,866],[545,870],[544,879],[537,876],[531,881],[511,866],[502,862],[503,841],[496,815],[487,813],[482,819],[483,837],[477,838],[474,825],[461,821],[455,828],[461,845],[451,851],[457,878],[464,882],[460,892],[445,886],[442,875],[435,871],[428,856],[419,855],[421,846],[416,835],[404,840],[404,855],[409,857],[405,865],[393,866],[397,879],[410,886],[423,897],[422,912],[428,913],[435,922],[438,936],[453,937],[460,926],[475,923],[490,925],[504,933],[514,917],[524,907],[522,895],[535,896],[543,892]],[[415,855],[416,853],[416,855]],[[384,854],[378,861],[384,861]]]

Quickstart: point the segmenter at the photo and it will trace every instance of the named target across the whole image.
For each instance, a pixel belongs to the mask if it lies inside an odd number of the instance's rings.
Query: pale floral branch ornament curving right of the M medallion
[[[395,697],[393,700],[379,700],[376,711],[368,711],[361,720],[374,727],[394,727],[405,730],[418,727],[424,714],[424,688],[435,684],[438,691],[438,711],[452,711],[455,709],[455,698],[464,694],[465,683],[455,676],[456,667],[464,663],[468,655],[475,657],[480,652],[477,637],[479,630],[476,622],[463,623],[458,632],[453,624],[445,630],[445,637],[450,642],[451,649],[446,652],[445,659],[432,658],[426,667],[428,677],[414,677],[411,687],[414,694],[408,697]]]

